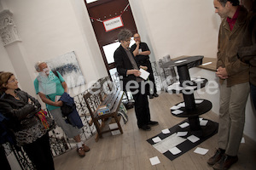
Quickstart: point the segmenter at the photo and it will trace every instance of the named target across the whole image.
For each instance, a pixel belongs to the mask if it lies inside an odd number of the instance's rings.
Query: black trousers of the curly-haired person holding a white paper
[[[150,111],[148,107],[148,96],[147,94],[142,94],[142,85],[139,83],[139,88],[137,94],[132,94],[135,108],[135,114],[137,116],[137,126],[142,127],[147,125],[150,121]]]

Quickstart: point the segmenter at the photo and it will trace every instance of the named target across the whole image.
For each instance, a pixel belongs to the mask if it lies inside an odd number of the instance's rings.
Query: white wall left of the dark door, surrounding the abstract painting
[[[25,49],[22,57],[30,71],[31,82],[27,83],[32,83],[37,76],[33,65],[38,60],[52,59],[71,51],[77,55],[86,85],[108,75],[82,0],[1,0],[1,3],[14,14],[22,41],[20,48]],[[79,14],[81,17],[77,17]],[[1,63],[6,56],[4,53],[0,51]],[[4,70],[9,71],[8,68]],[[18,78],[25,77],[27,75]],[[20,82],[20,85],[23,84]],[[34,93],[34,89],[27,91]],[[80,92],[81,88],[71,91],[73,94]]]

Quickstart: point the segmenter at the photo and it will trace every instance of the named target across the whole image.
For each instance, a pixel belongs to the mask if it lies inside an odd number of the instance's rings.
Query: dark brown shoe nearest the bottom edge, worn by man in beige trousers
[[[237,156],[228,156],[228,155],[224,154],[221,157],[221,159],[213,165],[212,168],[215,170],[227,170],[231,167],[231,165],[236,163],[236,161],[238,161]]]

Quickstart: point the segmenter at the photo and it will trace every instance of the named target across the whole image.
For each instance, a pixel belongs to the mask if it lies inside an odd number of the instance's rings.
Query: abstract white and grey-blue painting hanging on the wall
[[[63,54],[55,59],[49,59],[46,62],[52,71],[61,73],[68,88],[85,84],[84,76],[80,70],[79,62],[74,51]]]

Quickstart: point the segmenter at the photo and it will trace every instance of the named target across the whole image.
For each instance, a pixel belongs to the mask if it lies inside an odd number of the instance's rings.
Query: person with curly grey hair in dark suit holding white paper
[[[150,111],[148,106],[148,96],[145,94],[145,82],[140,77],[141,69],[148,68],[143,65],[138,65],[133,54],[129,50],[132,33],[130,30],[123,29],[119,31],[118,39],[121,42],[113,54],[113,59],[117,71],[119,73],[120,84],[122,90],[130,91],[135,100],[135,114],[137,116],[137,127],[144,131],[151,130],[152,126],[158,125],[158,122],[151,121]]]

